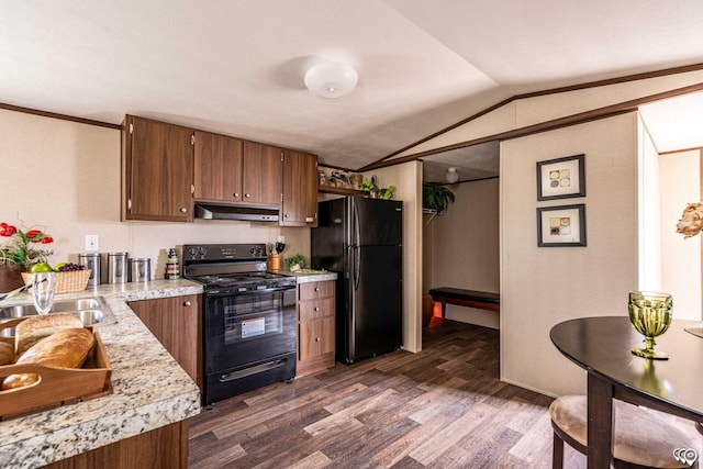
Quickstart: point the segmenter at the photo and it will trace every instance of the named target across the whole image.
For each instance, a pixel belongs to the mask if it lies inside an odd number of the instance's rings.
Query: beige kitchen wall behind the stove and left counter
[[[150,257],[164,277],[166,250],[185,243],[270,243],[280,234],[284,257],[310,257],[309,228],[197,221],[120,222],[120,132],[0,110],[0,221],[44,225],[55,238],[52,263],[77,259],[85,235],[100,236],[100,252]],[[1,241],[1,239],[0,239]]]

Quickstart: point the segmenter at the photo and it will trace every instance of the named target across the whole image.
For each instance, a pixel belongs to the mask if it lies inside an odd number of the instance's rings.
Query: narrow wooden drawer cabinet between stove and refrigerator
[[[334,367],[335,282],[298,284],[297,376]]]

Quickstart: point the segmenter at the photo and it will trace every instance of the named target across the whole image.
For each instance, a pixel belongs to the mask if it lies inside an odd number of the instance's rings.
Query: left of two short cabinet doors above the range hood
[[[242,146],[238,138],[196,131],[197,200],[242,202]]]

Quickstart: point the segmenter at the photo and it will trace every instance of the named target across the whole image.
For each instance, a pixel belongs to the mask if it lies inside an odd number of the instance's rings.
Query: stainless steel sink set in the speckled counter
[[[103,297],[77,298],[75,300],[55,301],[51,313],[72,313],[78,315],[85,325],[112,324],[115,322],[112,310]],[[16,304],[0,309],[0,323],[16,317],[36,315],[34,304]],[[4,330],[7,331],[7,330]],[[2,331],[2,332],[4,332]],[[0,332],[0,334],[2,334]]]

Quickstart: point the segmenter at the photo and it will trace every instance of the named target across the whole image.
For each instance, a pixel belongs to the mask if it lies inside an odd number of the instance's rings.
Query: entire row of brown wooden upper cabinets
[[[190,222],[193,201],[266,205],[317,226],[317,157],[127,115],[122,220]]]

